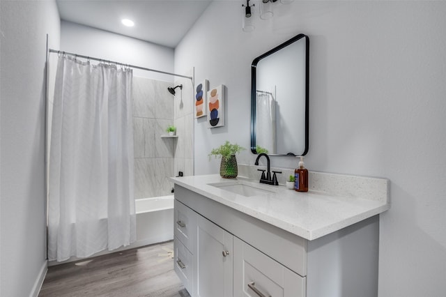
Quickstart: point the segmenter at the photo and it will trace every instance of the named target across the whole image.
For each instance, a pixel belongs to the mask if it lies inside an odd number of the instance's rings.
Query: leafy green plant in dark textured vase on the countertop
[[[222,178],[236,178],[238,175],[237,159],[236,154],[243,151],[245,148],[239,146],[238,144],[231,144],[226,140],[224,144],[217,148],[213,148],[209,153],[210,156],[215,156],[215,158],[221,156],[222,161],[220,162],[220,176]]]

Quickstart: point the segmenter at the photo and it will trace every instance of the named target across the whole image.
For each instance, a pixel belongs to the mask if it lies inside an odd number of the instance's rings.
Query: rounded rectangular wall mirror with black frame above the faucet
[[[307,153],[308,51],[308,36],[299,34],[252,61],[252,153]]]

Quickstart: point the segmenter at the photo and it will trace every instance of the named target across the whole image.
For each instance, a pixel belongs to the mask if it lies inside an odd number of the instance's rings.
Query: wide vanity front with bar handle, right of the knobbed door
[[[305,277],[233,238],[234,296],[304,297]]]

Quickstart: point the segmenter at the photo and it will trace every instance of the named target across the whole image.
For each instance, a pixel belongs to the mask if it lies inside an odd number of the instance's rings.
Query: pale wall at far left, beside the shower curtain
[[[45,275],[45,50],[55,1],[1,1],[1,296],[37,294]]]

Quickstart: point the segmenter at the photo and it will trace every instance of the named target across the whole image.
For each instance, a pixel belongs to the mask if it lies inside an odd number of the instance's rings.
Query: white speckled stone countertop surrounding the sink
[[[295,192],[287,190],[283,185],[264,185],[243,177],[226,179],[212,174],[176,177],[171,178],[171,181],[309,241],[390,208],[388,199],[383,201],[370,197],[338,196],[314,190]],[[246,197],[208,185],[210,183],[245,183],[272,192]]]

